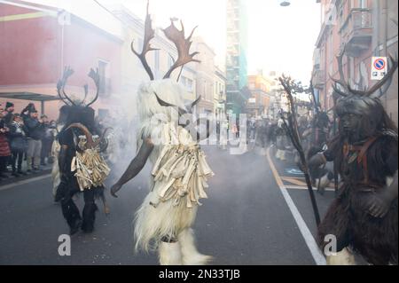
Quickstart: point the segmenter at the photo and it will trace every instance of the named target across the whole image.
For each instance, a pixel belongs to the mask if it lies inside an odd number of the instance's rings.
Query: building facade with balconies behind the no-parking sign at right
[[[314,53],[313,84],[324,109],[333,106],[332,80],[340,78],[336,56],[345,46],[342,70],[354,88],[370,87],[373,56],[397,53],[397,9],[395,0],[317,0],[322,26]],[[395,55],[394,55],[395,56]],[[397,71],[381,98],[397,124]]]

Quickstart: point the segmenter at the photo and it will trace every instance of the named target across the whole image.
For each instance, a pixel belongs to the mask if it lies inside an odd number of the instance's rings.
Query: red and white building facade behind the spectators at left
[[[37,109],[57,119],[56,85],[64,67],[74,69],[66,93],[82,99],[88,83],[96,88],[90,68],[100,75],[98,110],[112,105],[120,87],[122,40],[86,20],[54,7],[19,2],[0,3],[0,102],[12,101],[19,111],[34,102]],[[88,98],[90,99],[90,98]]]

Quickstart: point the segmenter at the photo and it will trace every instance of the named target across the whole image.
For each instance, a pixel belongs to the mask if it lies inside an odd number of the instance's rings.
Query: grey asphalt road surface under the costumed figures
[[[209,199],[202,201],[194,226],[200,252],[213,255],[214,264],[221,265],[316,264],[303,225],[276,181],[289,164],[275,161],[270,153],[278,171],[273,174],[267,156],[254,151],[232,155],[215,147],[205,150],[215,177],[209,180]],[[133,251],[132,219],[145,198],[149,171],[146,166],[118,199],[106,192],[111,214],[100,209],[95,232],[72,237],[70,256],[58,253],[59,235],[68,228],[61,208],[52,201],[50,176],[0,186],[0,264],[158,264],[156,254]],[[111,177],[108,183],[112,182]],[[287,192],[315,234],[308,192],[303,188]],[[317,195],[322,215],[332,198],[332,192]],[[82,208],[82,196],[77,202]]]

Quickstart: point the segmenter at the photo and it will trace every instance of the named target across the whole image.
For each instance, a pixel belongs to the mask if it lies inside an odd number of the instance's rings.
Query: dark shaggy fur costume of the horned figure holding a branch
[[[397,264],[397,198],[383,218],[371,216],[367,207],[372,193],[386,190],[387,177],[393,177],[397,170],[397,130],[379,101],[370,99],[365,100],[369,115],[363,116],[359,127],[358,134],[363,140],[348,145],[340,125],[340,134],[324,153],[327,161],[334,161],[337,166],[342,184],[339,197],[318,227],[318,243],[324,248],[325,235],[332,234],[337,237],[338,251],[351,247],[369,263]],[[350,101],[338,107],[338,114],[358,110],[356,105],[351,109],[342,106],[351,107]],[[364,153],[365,159],[358,157],[367,142],[371,145]]]

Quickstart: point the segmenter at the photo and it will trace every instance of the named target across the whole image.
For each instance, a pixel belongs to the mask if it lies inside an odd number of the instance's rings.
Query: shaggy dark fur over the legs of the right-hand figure
[[[318,227],[319,246],[324,249],[325,236],[331,234],[337,238],[338,252],[351,247],[368,263],[397,264],[398,200],[393,201],[386,216],[375,218],[367,212],[370,196],[355,188],[344,188]]]

